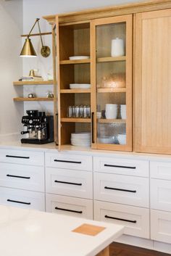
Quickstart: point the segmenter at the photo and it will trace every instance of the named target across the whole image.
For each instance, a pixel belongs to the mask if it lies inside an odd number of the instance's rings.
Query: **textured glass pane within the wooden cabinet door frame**
[[[98,144],[126,144],[126,25],[96,26]]]

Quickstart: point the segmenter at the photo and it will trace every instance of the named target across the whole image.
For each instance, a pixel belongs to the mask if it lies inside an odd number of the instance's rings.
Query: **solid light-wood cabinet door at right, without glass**
[[[171,9],[135,17],[135,151],[171,154]]]

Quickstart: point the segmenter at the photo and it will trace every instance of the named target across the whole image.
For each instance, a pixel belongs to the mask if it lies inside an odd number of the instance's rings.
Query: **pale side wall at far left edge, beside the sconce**
[[[21,33],[22,1],[0,0],[0,141],[21,129],[23,107],[12,100],[22,94],[22,88],[15,89],[12,85],[22,74]]]

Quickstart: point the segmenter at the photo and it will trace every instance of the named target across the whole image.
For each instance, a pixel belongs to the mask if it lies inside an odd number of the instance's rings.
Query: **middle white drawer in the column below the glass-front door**
[[[149,207],[149,178],[94,173],[94,198]]]

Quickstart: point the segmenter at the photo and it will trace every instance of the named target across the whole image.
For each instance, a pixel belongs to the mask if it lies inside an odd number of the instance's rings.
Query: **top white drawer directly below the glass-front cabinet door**
[[[149,177],[149,161],[93,157],[93,165],[96,172]]]

